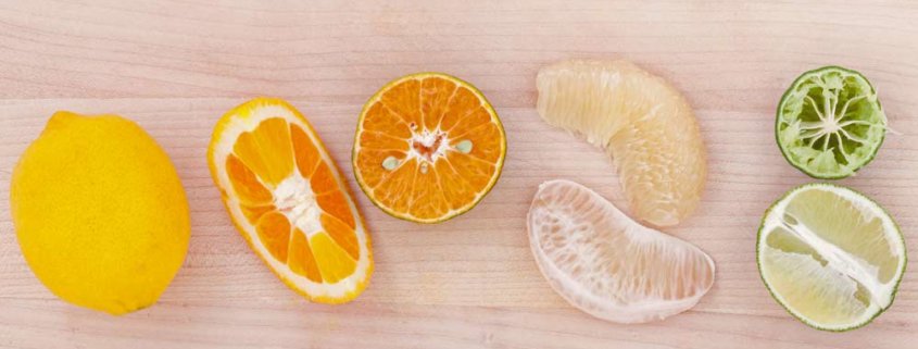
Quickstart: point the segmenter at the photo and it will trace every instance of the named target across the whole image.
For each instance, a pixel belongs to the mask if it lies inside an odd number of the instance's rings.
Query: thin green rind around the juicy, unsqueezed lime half
[[[783,208],[784,204],[787,203],[787,201],[789,201],[789,199],[792,198],[797,192],[806,190],[806,189],[810,189],[810,188],[817,188],[817,189],[818,188],[828,188],[829,190],[835,191],[835,192],[847,191],[848,198],[851,198],[851,197],[859,198],[860,203],[868,204],[869,207],[877,209],[876,213],[878,214],[878,216],[881,217],[884,221],[888,221],[890,226],[895,232],[894,235],[898,237],[898,240],[890,241],[891,244],[900,247],[898,251],[902,253],[902,261],[900,262],[900,267],[897,269],[894,281],[892,282],[892,287],[890,287],[889,303],[885,304],[884,307],[879,307],[876,310],[875,313],[869,314],[868,316],[865,316],[865,320],[857,322],[857,323],[853,323],[853,324],[847,325],[847,326],[827,326],[827,325],[820,324],[818,322],[812,321],[807,316],[800,314],[798,312],[792,310],[784,302],[783,298],[778,292],[776,292],[775,289],[772,289],[771,285],[766,279],[765,273],[764,273],[763,267],[762,267],[762,265],[763,265],[763,263],[762,263],[762,251],[763,251],[763,244],[764,244],[763,241],[767,237],[764,233],[765,233],[766,228],[772,227],[769,224],[767,224],[767,221],[771,216],[772,211],[775,211],[776,208],[778,208],[779,205]],[[795,187],[791,190],[788,190],[788,192],[785,192],[780,199],[778,199],[778,201],[775,201],[775,203],[772,203],[765,211],[765,214],[762,217],[762,223],[758,227],[758,232],[757,232],[757,235],[756,235],[756,245],[755,245],[756,260],[755,260],[755,262],[756,262],[756,265],[758,267],[759,278],[762,279],[762,283],[765,285],[765,288],[768,290],[768,294],[771,295],[771,298],[775,299],[775,301],[777,301],[778,304],[780,304],[781,308],[784,309],[784,311],[787,311],[789,314],[791,314],[791,316],[794,316],[795,319],[797,319],[802,323],[804,323],[807,326],[810,326],[813,328],[816,328],[816,329],[827,331],[827,332],[847,332],[847,331],[864,327],[867,324],[871,323],[875,319],[877,319],[883,312],[885,312],[888,309],[890,309],[890,307],[892,307],[892,304],[895,302],[895,296],[896,296],[896,292],[898,291],[898,286],[902,284],[902,278],[905,275],[906,265],[908,265],[908,253],[907,253],[907,249],[906,249],[905,246],[906,246],[905,245],[905,237],[902,234],[902,229],[900,228],[900,226],[895,222],[895,220],[892,219],[892,215],[890,215],[889,211],[886,211],[885,208],[883,208],[882,205],[880,205],[879,203],[877,203],[876,201],[873,201],[872,199],[870,199],[869,197],[867,197],[866,195],[864,195],[864,194],[862,194],[857,190],[854,190],[854,189],[851,189],[851,188],[847,188],[847,187],[844,187],[844,186],[828,184],[828,183],[810,183],[810,184],[801,185],[801,186],[797,186],[797,187]]]

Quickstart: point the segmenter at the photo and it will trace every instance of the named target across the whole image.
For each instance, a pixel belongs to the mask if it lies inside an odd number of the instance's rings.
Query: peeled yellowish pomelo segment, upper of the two
[[[669,83],[627,61],[573,60],[539,71],[539,115],[606,149],[641,221],[671,226],[701,201],[707,175],[694,113]]]

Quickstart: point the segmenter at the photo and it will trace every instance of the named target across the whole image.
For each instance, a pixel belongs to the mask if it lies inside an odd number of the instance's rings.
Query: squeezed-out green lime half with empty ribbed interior
[[[778,104],[775,133],[794,167],[814,178],[844,178],[873,160],[886,115],[864,75],[825,66],[791,84]]]

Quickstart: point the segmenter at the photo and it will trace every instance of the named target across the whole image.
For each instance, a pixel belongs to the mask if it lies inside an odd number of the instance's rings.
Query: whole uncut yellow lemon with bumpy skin
[[[10,207],[23,255],[48,289],[111,314],[153,304],[188,251],[178,174],[116,115],[58,112],[20,158]]]

